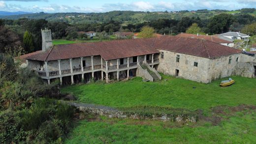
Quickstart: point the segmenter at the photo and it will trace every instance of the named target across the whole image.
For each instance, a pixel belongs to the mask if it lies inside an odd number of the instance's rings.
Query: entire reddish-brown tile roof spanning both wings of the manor
[[[203,58],[215,58],[241,53],[240,50],[204,39],[165,35],[160,38],[126,39],[95,43],[55,45],[47,52],[32,55],[27,59],[51,61],[100,55],[105,60],[111,60],[156,54],[159,53],[157,49]]]

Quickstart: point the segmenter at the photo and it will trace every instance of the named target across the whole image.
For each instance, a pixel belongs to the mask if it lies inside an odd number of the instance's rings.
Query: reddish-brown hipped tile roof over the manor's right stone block
[[[160,50],[203,58],[216,58],[241,53],[240,50],[204,39],[184,38],[167,35],[158,38],[154,47]]]

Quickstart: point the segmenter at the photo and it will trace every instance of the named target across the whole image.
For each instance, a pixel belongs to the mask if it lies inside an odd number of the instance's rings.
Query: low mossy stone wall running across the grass
[[[63,101],[65,102],[65,101]],[[70,106],[76,107],[82,112],[92,113],[96,115],[103,115],[110,118],[132,118],[132,119],[152,119],[152,120],[162,120],[162,121],[190,121],[196,122],[196,115],[152,115],[151,117],[140,116],[138,114],[127,114],[125,112],[119,111],[115,108],[98,106],[94,104],[83,104],[83,103],[74,103],[74,102],[65,102]]]

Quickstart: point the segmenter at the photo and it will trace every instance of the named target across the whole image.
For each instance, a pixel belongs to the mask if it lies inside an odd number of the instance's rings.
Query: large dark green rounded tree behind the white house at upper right
[[[234,21],[235,19],[232,15],[222,13],[211,18],[208,28],[211,33],[224,33],[229,30]]]

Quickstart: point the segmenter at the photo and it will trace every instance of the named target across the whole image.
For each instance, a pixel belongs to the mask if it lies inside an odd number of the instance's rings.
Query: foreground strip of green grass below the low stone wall
[[[256,144],[256,112],[211,123],[102,118],[82,120],[65,144]]]

